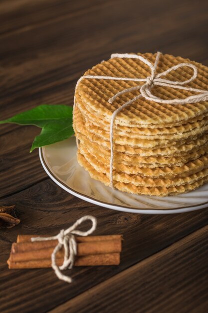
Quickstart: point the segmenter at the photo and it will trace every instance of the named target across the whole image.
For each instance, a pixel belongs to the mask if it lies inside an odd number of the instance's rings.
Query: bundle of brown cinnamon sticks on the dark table
[[[36,235],[18,235],[12,243],[9,268],[51,267],[51,253],[58,240],[31,241]],[[122,249],[122,235],[76,236],[77,255],[75,266],[118,265]],[[61,265],[64,249],[58,251],[56,264]]]

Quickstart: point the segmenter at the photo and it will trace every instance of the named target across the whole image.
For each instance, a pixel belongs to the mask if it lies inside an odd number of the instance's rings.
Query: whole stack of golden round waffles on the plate
[[[152,64],[156,54],[145,53]],[[157,72],[189,62],[198,76],[185,86],[207,90],[208,67],[173,55],[162,55]],[[84,75],[145,78],[150,69],[139,59],[111,58]],[[184,66],[169,72],[169,80],[185,81],[193,75]],[[112,113],[139,91],[126,92],[109,103],[117,92],[144,82],[83,77],[75,90],[73,127],[78,141],[77,159],[92,178],[110,184],[110,122]],[[178,99],[194,91],[154,86],[163,99]],[[121,191],[166,196],[193,190],[208,181],[208,101],[161,104],[141,97],[122,109],[114,121],[113,185]]]

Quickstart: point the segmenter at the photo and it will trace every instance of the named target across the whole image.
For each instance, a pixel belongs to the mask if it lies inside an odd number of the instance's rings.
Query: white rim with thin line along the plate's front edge
[[[76,191],[66,185],[62,180],[60,180],[55,174],[50,170],[48,167],[44,155],[43,155],[43,147],[39,147],[39,158],[40,162],[47,173],[47,175],[57,184],[59,185],[62,189],[67,191],[68,193],[71,193],[78,198],[81,198],[87,202],[107,207],[110,209],[118,210],[118,211],[123,211],[123,212],[129,212],[129,213],[143,213],[143,214],[174,214],[174,213],[185,213],[185,212],[190,212],[194,210],[198,210],[201,208],[205,208],[208,205],[208,201],[203,202],[201,204],[196,204],[196,205],[189,205],[189,206],[182,206],[182,207],[177,207],[177,208],[171,208],[171,209],[157,209],[157,208],[152,208],[152,209],[147,209],[147,208],[129,208],[124,205],[118,205],[118,204],[109,204],[106,203],[102,200],[96,200],[95,198],[88,196],[86,194],[83,194],[79,191]]]

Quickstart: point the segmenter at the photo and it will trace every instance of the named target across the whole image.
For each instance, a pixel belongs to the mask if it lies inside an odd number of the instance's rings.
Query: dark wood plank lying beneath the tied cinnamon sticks
[[[116,212],[77,199],[51,180],[0,202],[7,205],[13,203],[21,212],[21,223],[0,233],[0,312],[45,312],[208,223],[208,209],[173,215]],[[7,269],[6,259],[11,242],[16,240],[18,233],[56,234],[85,214],[97,217],[95,234],[124,234],[119,266],[74,268],[68,271],[74,279],[71,285],[58,280],[51,269]],[[81,228],[84,229],[84,225]],[[5,289],[9,290],[6,294]]]

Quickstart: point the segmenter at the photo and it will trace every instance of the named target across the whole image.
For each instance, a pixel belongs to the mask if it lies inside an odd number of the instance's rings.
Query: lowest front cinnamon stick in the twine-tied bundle
[[[46,268],[51,267],[51,259],[32,259],[25,261],[13,261],[9,257],[8,267],[12,268]],[[63,258],[56,258],[56,264],[61,265]],[[118,265],[120,263],[120,253],[103,253],[95,255],[78,256],[75,260],[75,266],[100,266],[100,265]]]

